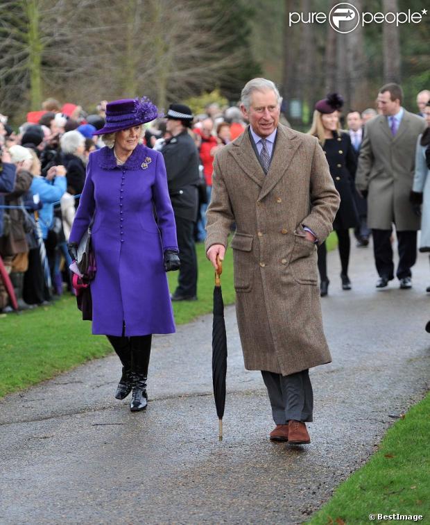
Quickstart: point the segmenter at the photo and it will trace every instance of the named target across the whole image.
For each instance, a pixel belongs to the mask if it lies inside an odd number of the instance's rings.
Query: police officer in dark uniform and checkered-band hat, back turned
[[[194,227],[198,210],[198,165],[196,144],[189,135],[193,122],[191,109],[183,104],[171,104],[167,112],[166,131],[171,138],[162,147],[166,163],[167,183],[175,213],[180,257],[178,287],[172,301],[197,299],[197,256]]]

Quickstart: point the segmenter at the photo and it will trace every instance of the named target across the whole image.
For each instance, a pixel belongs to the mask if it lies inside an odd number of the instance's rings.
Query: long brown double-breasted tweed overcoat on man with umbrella
[[[293,374],[329,363],[316,244],[332,231],[339,195],[318,140],[277,126],[267,174],[248,131],[216,153],[206,249],[232,238],[236,316],[245,367]]]

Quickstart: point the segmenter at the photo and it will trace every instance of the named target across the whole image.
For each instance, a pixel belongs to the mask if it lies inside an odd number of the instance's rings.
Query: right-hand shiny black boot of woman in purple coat
[[[148,378],[152,337],[152,335],[140,335],[130,338],[131,369],[133,378],[133,392],[130,410],[132,412],[144,410],[148,405],[146,380]]]

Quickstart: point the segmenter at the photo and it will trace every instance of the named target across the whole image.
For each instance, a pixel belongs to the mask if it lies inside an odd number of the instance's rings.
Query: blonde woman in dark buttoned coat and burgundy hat
[[[357,158],[352,147],[350,135],[341,131],[339,110],[343,99],[336,93],[328,94],[326,99],[316,103],[313,123],[309,133],[318,137],[329,163],[334,185],[341,196],[341,206],[333,222],[338,236],[338,250],[341,257],[341,282],[343,290],[351,290],[348,277],[350,262],[350,232],[359,224],[359,215],[354,201],[354,177]],[[327,295],[329,278],[327,277],[327,248],[325,242],[318,247],[318,270],[320,272],[321,297]]]

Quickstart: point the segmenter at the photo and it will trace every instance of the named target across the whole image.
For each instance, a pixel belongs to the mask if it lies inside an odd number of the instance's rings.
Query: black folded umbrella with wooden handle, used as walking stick
[[[225,333],[224,301],[221,292],[221,261],[217,259],[215,272],[214,322],[212,324],[212,381],[216,414],[219,419],[219,439],[223,439],[223,415],[225,408],[225,375],[227,374],[227,334]]]

